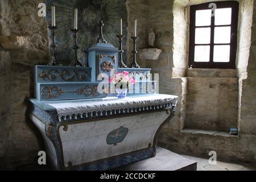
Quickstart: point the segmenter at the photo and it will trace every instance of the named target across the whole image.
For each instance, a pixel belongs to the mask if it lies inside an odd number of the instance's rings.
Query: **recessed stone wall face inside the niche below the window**
[[[237,128],[238,78],[188,77],[185,128],[229,132]]]

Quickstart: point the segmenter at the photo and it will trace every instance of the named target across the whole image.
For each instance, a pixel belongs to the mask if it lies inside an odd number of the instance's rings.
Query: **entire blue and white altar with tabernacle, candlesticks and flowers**
[[[28,98],[27,113],[53,168],[108,170],[154,157],[158,134],[175,114],[177,96],[158,94],[151,69],[138,65],[137,20],[130,68],[122,59],[122,31],[118,49],[106,42],[102,19],[97,43],[86,49],[87,64],[82,64],[75,9],[75,58],[63,66],[55,55],[55,7],[52,13],[52,59],[34,68],[34,98]]]

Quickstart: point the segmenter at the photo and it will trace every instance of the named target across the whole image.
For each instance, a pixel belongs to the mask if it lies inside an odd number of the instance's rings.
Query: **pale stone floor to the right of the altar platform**
[[[217,161],[216,165],[211,165],[208,159],[196,158],[188,155],[181,155],[185,158],[195,160],[197,162],[197,171],[256,171],[256,166],[249,164],[233,164]]]

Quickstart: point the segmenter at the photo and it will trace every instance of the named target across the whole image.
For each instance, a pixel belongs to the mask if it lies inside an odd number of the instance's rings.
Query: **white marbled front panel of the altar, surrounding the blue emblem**
[[[129,117],[60,125],[59,137],[65,167],[90,163],[153,146],[156,131],[170,114],[166,111]],[[108,144],[108,135],[123,127],[127,135],[119,143]],[[122,135],[118,131],[113,138]],[[81,152],[82,151],[82,152]]]

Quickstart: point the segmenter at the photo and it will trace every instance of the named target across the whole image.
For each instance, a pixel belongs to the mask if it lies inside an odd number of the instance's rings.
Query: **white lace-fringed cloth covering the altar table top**
[[[94,117],[98,115],[112,115],[120,113],[136,113],[144,110],[162,109],[176,106],[177,96],[166,94],[152,94],[147,96],[129,96],[119,99],[106,97],[101,100],[82,102],[61,102],[48,104],[57,110],[59,121]]]

